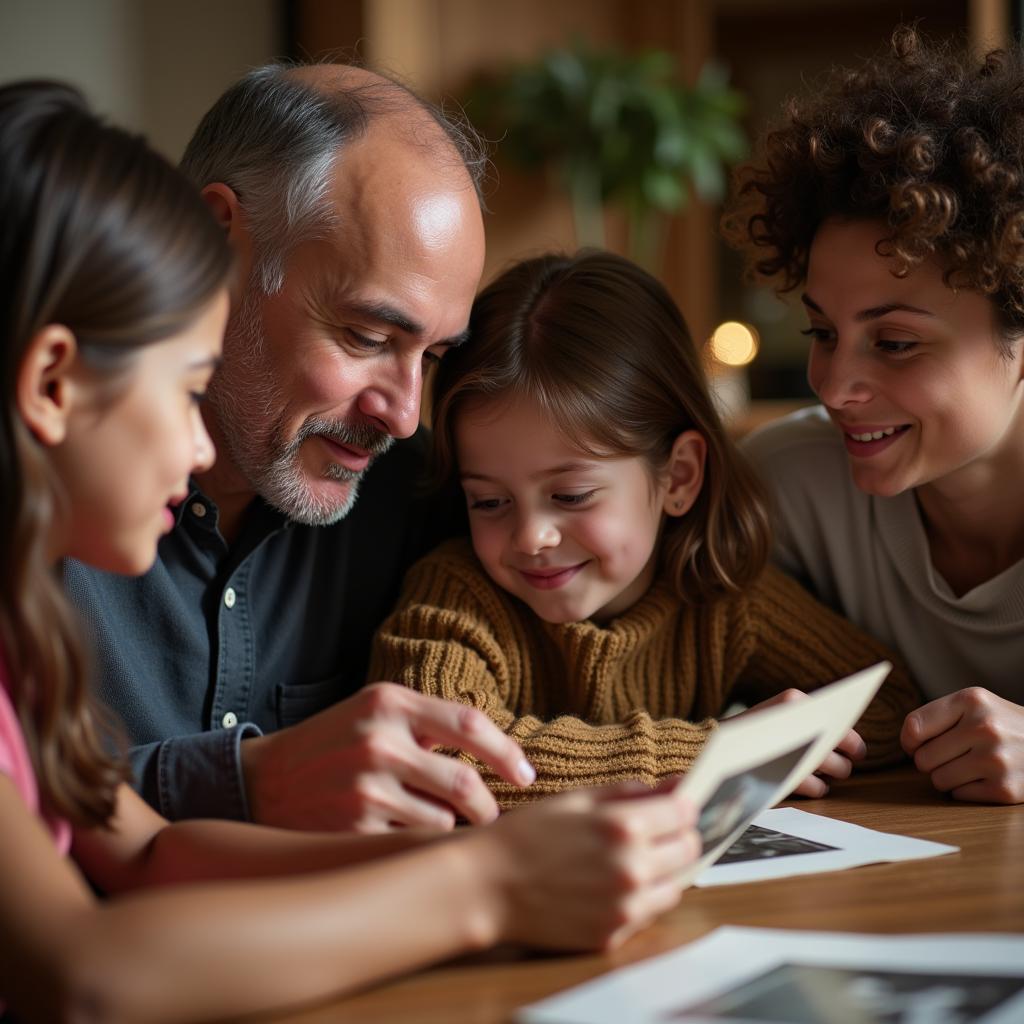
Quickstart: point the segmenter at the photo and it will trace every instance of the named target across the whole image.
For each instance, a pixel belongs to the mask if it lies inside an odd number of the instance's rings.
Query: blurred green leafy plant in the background
[[[500,157],[556,173],[580,245],[604,247],[604,208],[615,206],[630,255],[651,268],[666,215],[692,193],[720,199],[727,165],[746,151],[743,100],[723,69],[710,63],[687,86],[663,51],[552,50],[480,82],[467,110]]]

